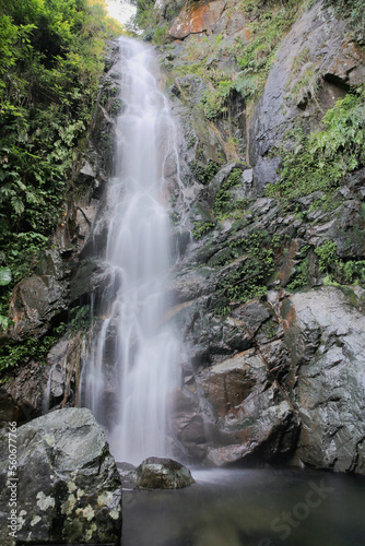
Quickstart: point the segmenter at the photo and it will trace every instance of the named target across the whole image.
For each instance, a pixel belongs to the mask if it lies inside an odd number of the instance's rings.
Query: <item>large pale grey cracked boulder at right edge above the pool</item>
[[[322,287],[283,304],[293,399],[303,423],[296,453],[302,464],[365,473],[361,299],[355,293],[349,298],[339,288]]]

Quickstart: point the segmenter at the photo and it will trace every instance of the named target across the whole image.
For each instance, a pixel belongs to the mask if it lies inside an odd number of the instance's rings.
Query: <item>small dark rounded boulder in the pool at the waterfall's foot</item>
[[[173,459],[150,456],[137,468],[137,485],[141,489],[179,489],[193,483],[190,471]]]

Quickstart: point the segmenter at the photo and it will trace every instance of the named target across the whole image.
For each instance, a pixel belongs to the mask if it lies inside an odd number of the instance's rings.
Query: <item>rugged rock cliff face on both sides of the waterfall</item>
[[[326,111],[364,81],[363,45],[331,8],[302,7],[260,98],[248,105],[233,90],[213,115],[201,67],[239,78],[229,47],[238,38],[251,43],[255,17],[248,21],[238,1],[165,1],[158,10],[172,39],[158,55],[178,124],[182,182],[166,165],[178,258],[166,320],[177,322],[190,354],[170,408],[174,454],[210,465],[287,462],[364,473],[365,169],[343,178],[330,205],[321,191],[266,194],[279,179],[283,150],[296,145],[291,131],[320,130]],[[68,296],[60,275],[47,309],[32,307],[26,287],[40,290],[48,273],[23,282],[13,298],[14,335],[43,331],[56,307],[84,306],[90,294],[102,307],[107,278],[93,257],[102,256],[105,240],[102,190],[111,173],[114,117],[122,108],[118,85],[110,64],[80,165],[80,180],[91,189],[66,222]],[[36,416],[47,381],[49,407],[76,403],[82,343],[81,332],[72,333],[52,348],[48,367],[30,363],[2,387],[4,420]]]

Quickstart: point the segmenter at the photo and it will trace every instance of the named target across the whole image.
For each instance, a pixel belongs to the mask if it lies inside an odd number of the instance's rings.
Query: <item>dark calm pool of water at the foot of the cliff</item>
[[[298,470],[192,472],[125,491],[122,546],[364,546],[365,479]]]

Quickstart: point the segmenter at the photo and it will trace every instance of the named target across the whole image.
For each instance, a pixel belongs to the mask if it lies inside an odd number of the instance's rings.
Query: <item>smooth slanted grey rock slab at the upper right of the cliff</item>
[[[275,150],[293,120],[305,117],[308,131],[318,129],[323,112],[364,78],[364,52],[348,31],[346,22],[337,20],[332,9],[320,1],[299,16],[281,43],[250,122],[250,165],[259,191],[278,179]],[[313,73],[313,83],[305,86],[301,82],[308,73]],[[295,86],[303,87],[301,97]],[[317,87],[316,103],[313,94]]]

